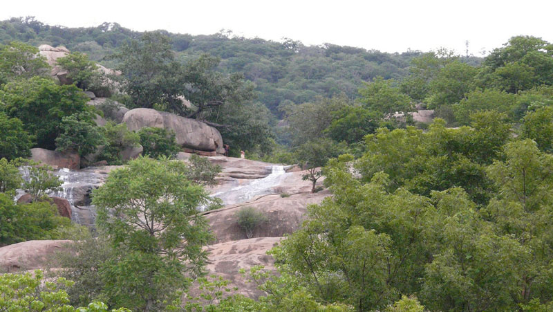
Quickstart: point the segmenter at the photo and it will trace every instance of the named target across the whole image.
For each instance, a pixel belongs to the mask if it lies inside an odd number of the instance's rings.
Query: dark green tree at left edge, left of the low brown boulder
[[[15,159],[30,156],[32,137],[24,130],[23,122],[9,118],[0,111],[0,158]]]

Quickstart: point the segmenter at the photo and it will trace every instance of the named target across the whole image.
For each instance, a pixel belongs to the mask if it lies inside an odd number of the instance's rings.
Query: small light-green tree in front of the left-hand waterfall
[[[30,164],[26,167],[28,178],[21,188],[30,194],[33,201],[41,198],[49,192],[61,190],[63,181],[52,174],[53,168],[48,165]]]

